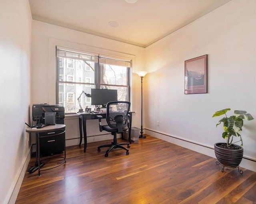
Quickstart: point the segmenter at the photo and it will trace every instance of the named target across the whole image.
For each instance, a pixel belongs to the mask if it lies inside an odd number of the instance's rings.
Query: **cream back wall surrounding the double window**
[[[145,49],[96,37],[79,31],[66,29],[39,21],[32,21],[32,104],[56,104],[55,92],[55,46],[132,59],[132,72],[144,69]],[[139,91],[135,91],[138,89]],[[140,78],[132,74],[132,126],[140,127]],[[66,145],[77,145],[79,139],[78,116],[66,116]],[[96,136],[98,121],[88,121],[88,142],[111,139],[112,136]],[[71,140],[70,140],[71,139]],[[95,139],[95,140],[94,140]]]

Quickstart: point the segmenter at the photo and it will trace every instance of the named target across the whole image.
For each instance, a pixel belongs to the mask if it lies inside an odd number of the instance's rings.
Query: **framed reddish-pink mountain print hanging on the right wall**
[[[208,55],[185,61],[185,94],[207,93]]]

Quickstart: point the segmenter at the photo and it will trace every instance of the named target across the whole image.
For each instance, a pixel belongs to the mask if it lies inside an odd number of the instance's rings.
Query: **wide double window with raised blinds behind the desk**
[[[82,108],[94,108],[91,98],[83,94],[91,93],[91,88],[117,89],[118,100],[130,100],[129,60],[56,47],[56,61],[56,104],[62,104],[66,114],[80,109],[80,95]]]

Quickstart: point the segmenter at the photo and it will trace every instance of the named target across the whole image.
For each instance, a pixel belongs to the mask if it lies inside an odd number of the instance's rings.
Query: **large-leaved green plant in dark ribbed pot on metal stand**
[[[224,132],[222,133],[222,137],[226,139],[226,143],[215,143],[214,144],[214,153],[218,160],[216,162],[218,165],[221,164],[223,166],[222,172],[224,171],[225,167],[231,168],[239,168],[239,165],[243,158],[243,140],[242,140],[242,127],[243,127],[243,120],[253,120],[251,114],[248,114],[244,110],[235,110],[234,115],[228,117],[226,112],[228,112],[230,108],[226,108],[223,110],[216,111],[212,117],[222,116],[225,114],[225,117],[220,119],[219,122],[216,124],[216,127],[223,122],[223,129]],[[238,141],[234,141],[234,136],[238,137]],[[235,143],[240,142],[240,145]],[[240,173],[242,170],[239,171]],[[242,174],[242,173],[241,173]]]

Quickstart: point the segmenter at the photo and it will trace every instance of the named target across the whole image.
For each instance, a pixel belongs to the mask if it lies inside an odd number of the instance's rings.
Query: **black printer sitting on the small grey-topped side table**
[[[60,105],[49,104],[33,104],[32,117],[33,121],[38,123],[45,123],[45,113],[56,113],[56,124],[64,124],[65,108]]]

